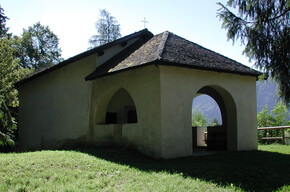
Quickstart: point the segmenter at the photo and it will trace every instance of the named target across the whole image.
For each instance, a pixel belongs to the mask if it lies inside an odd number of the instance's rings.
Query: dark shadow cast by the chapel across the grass
[[[78,151],[142,171],[182,173],[220,186],[233,184],[246,191],[273,191],[290,185],[290,155],[264,152],[227,152],[173,160],[154,160],[136,151],[84,148]]]

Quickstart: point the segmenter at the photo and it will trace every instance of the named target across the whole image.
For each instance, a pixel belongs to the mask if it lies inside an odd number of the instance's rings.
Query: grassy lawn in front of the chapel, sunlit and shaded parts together
[[[290,191],[290,146],[153,160],[116,148],[0,153],[0,191]]]

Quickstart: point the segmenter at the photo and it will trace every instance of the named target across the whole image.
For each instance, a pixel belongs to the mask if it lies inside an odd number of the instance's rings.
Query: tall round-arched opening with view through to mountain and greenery
[[[192,127],[193,151],[235,150],[236,107],[230,94],[218,86],[205,86],[196,93],[192,104],[192,115],[201,112],[207,118],[206,125]]]

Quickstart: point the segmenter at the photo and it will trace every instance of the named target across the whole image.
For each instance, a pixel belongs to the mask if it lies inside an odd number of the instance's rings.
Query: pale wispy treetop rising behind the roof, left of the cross
[[[96,29],[98,34],[90,38],[90,48],[109,43],[121,37],[118,21],[105,9],[100,10],[100,18],[96,22]]]

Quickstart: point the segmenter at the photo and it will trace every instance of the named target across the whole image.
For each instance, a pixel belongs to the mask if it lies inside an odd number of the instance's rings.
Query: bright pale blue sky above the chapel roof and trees
[[[153,34],[170,31],[238,62],[252,67],[242,55],[243,46],[227,41],[222,22],[216,17],[216,0],[1,0],[10,20],[10,32],[20,35],[40,21],[59,37],[62,56],[67,59],[88,48],[96,34],[99,10],[106,9],[121,25],[122,36],[146,27]],[[220,2],[226,3],[226,0]]]

